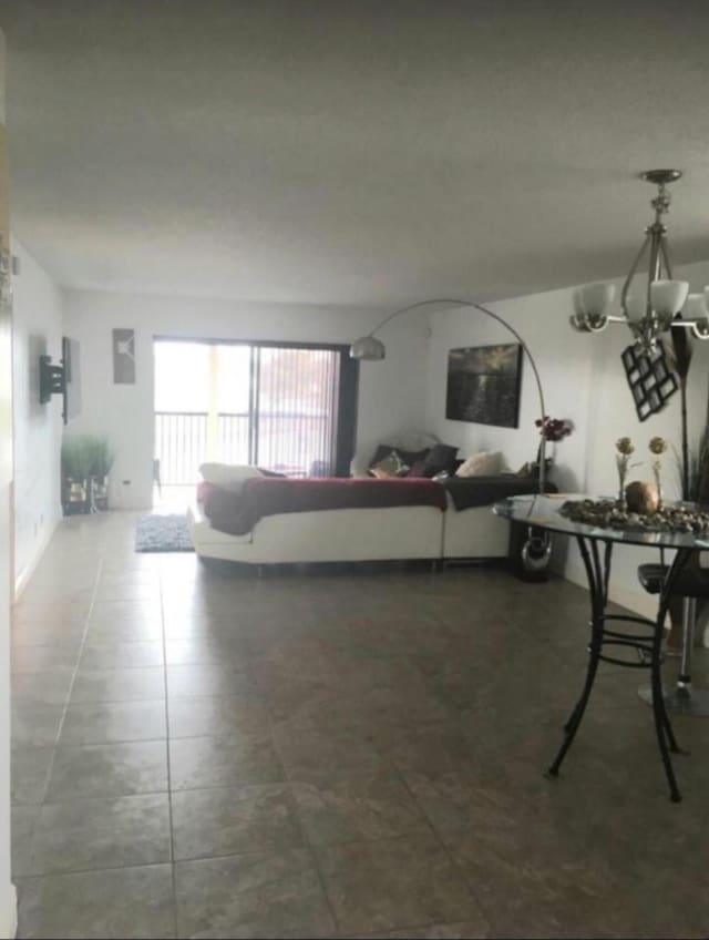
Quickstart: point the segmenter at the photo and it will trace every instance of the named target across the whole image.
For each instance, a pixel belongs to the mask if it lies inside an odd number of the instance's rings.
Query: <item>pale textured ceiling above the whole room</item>
[[[709,258],[709,3],[0,0],[13,227],[74,287],[388,307]]]

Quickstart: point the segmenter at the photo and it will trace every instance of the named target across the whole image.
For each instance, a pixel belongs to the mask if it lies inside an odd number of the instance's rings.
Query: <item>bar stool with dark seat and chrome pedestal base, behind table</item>
[[[648,594],[659,594],[667,568],[662,564],[641,564],[638,579]],[[695,627],[697,623],[697,599],[709,597],[709,570],[685,569],[677,579],[672,594],[682,599],[682,648],[679,675],[674,689],[662,689],[665,707],[684,715],[709,717],[709,691],[692,688],[691,658],[695,647]],[[644,702],[651,704],[653,691],[649,686],[638,689]]]

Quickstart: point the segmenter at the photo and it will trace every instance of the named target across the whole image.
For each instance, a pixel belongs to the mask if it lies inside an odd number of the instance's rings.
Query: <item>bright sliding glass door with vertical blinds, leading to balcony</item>
[[[155,340],[155,460],[163,486],[201,463],[289,477],[348,472],[357,364],[346,347]]]

